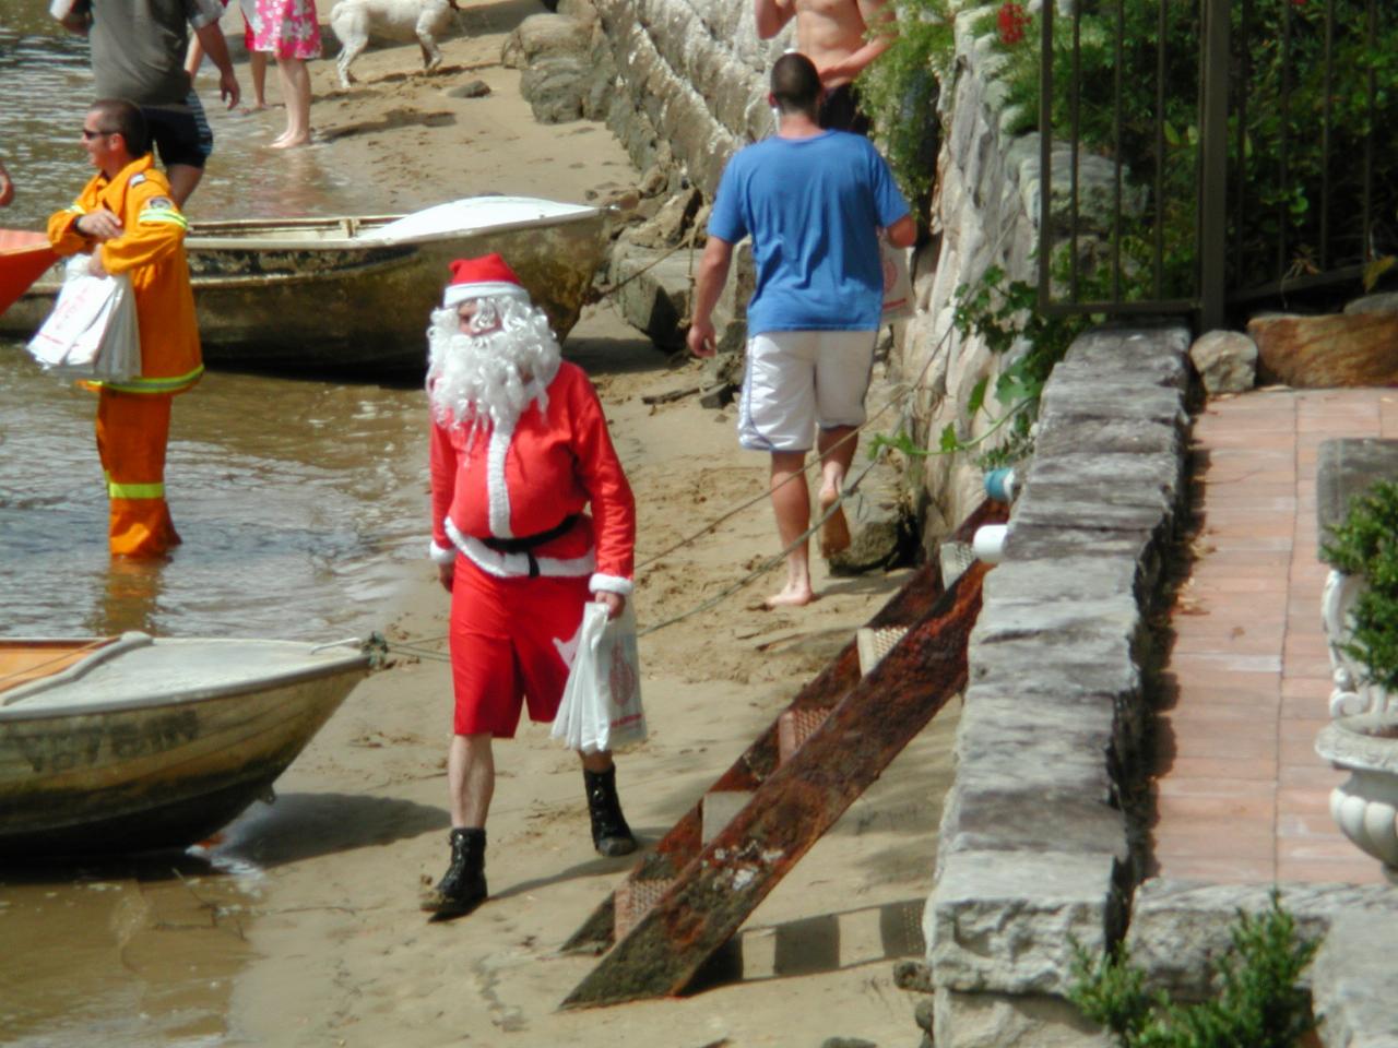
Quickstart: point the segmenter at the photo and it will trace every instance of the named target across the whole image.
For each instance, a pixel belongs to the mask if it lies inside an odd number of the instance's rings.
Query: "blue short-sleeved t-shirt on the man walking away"
[[[748,334],[875,330],[877,231],[906,214],[893,173],[861,136],[773,136],[740,150],[719,180],[709,233],[728,243],[752,236]]]

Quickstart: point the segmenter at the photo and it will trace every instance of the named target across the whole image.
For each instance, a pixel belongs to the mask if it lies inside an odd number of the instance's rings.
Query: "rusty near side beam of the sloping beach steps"
[[[679,871],[674,886],[563,1007],[664,996],[689,984],[854,798],[962,690],[986,570],[976,563],[956,580],[874,672],[850,687],[797,755],[763,777],[748,806]]]

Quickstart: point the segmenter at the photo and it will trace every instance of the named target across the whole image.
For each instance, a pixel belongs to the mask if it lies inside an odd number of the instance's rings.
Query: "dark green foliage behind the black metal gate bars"
[[[1237,286],[1264,284],[1279,271],[1288,277],[1316,272],[1323,261],[1329,268],[1367,263],[1384,252],[1385,238],[1391,252],[1398,138],[1378,129],[1398,126],[1398,21],[1380,18],[1370,35],[1367,6],[1369,0],[1230,6],[1232,98],[1234,103],[1246,99],[1241,116],[1236,106],[1230,115],[1227,137],[1230,183],[1241,187],[1234,193],[1227,229],[1230,279]],[[1329,80],[1327,7],[1335,15]],[[1039,126],[1039,14],[1029,21],[1022,41],[995,45],[1007,59],[1001,75],[1018,117],[1015,131]],[[980,29],[994,35],[994,10]],[[1156,54],[1162,38],[1163,60]],[[1144,211],[1120,231],[1125,264],[1153,272],[1152,245],[1159,229],[1162,293],[1188,295],[1198,222],[1199,4],[1123,0],[1118,25],[1116,0],[1083,0],[1078,39],[1075,64],[1072,20],[1054,20],[1054,130],[1065,136],[1076,119],[1085,151],[1123,159],[1146,200]],[[1321,134],[1327,112],[1328,152]],[[1359,231],[1353,219],[1363,212],[1363,158],[1370,148],[1374,180],[1367,191],[1371,214],[1381,218]],[[1328,219],[1323,219],[1327,210]],[[1146,286],[1149,281],[1142,291]]]

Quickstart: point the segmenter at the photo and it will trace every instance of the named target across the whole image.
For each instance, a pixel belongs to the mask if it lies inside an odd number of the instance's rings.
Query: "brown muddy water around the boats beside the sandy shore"
[[[0,0],[0,158],[18,183],[0,224],[14,228],[42,228],[91,173],[85,43],[46,7]],[[280,117],[218,110],[211,82],[215,154],[192,217],[383,210],[326,150],[260,148]],[[338,639],[386,625],[425,542],[417,388],[210,374],[175,404],[166,481],[185,545],[159,563],[108,558],[92,409],[0,341],[0,636]],[[0,1044],[235,1042],[228,992],[260,878],[199,855],[0,866]]]

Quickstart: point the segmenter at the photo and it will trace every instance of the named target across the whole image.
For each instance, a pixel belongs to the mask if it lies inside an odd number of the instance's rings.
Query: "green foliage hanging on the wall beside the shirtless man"
[[[899,186],[925,200],[937,172],[938,81],[952,68],[956,41],[948,0],[892,0],[898,35],[858,78],[860,105],[874,126]]]

